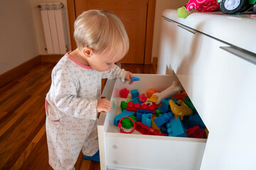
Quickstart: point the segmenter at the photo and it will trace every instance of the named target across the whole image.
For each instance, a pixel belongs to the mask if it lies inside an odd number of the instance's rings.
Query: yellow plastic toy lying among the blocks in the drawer
[[[181,105],[181,106],[178,106],[172,100],[169,101],[169,104],[170,104],[170,107],[171,107],[171,111],[174,113],[174,115],[180,117],[181,120],[183,120],[183,116],[192,115],[193,114],[193,111],[191,110],[191,108],[188,108],[188,106],[186,106],[186,104],[183,101],[178,100],[177,103],[179,105]]]

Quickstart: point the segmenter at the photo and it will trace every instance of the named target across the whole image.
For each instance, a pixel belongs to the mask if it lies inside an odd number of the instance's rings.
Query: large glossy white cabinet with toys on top
[[[201,169],[256,169],[256,20],[163,13],[158,74],[176,74],[209,129]]]

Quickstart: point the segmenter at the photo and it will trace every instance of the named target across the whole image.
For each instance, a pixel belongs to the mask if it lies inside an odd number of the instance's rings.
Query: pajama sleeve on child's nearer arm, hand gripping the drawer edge
[[[79,81],[66,69],[57,69],[52,74],[54,102],[59,111],[76,118],[96,120],[97,99],[78,97]]]

